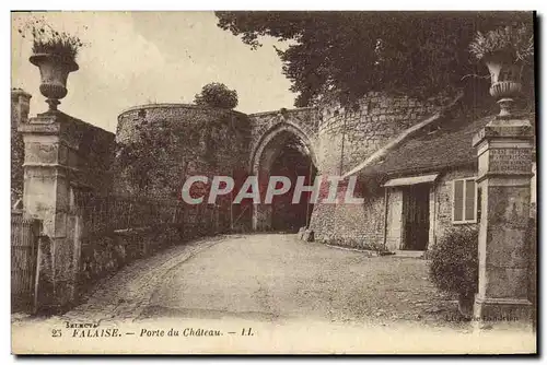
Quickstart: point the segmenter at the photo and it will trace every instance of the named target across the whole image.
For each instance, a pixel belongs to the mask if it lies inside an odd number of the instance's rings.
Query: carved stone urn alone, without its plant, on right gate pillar
[[[514,99],[521,94],[521,64],[514,62],[509,55],[492,54],[485,57],[485,63],[490,71],[492,95],[500,105],[499,117],[511,116]]]

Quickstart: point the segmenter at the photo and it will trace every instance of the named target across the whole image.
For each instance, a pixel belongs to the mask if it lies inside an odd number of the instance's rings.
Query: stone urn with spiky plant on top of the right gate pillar
[[[534,56],[534,35],[525,26],[505,26],[486,34],[477,32],[470,52],[490,71],[490,95],[500,105],[499,117],[510,117],[521,94],[523,67]]]

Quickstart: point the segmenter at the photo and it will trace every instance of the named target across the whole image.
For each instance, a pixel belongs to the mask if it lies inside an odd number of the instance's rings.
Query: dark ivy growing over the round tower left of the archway
[[[216,117],[198,110],[184,122],[148,119],[143,113],[133,128],[131,139],[116,148],[116,168],[131,187],[129,193],[138,196],[175,198],[188,176],[231,174],[244,163],[248,144],[248,120],[225,110],[217,110]]]

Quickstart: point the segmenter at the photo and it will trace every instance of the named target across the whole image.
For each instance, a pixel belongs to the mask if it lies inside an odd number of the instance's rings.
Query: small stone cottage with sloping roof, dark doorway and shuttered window
[[[494,114],[441,118],[356,174],[372,190],[365,209],[375,210],[383,226],[380,246],[388,250],[427,250],[449,229],[478,227],[481,191],[475,182],[477,153],[473,138]],[[535,120],[534,114],[525,115]],[[533,172],[535,156],[533,154]],[[517,163],[519,157],[512,158]],[[535,177],[531,204],[535,205]],[[383,205],[384,209],[375,209]],[[535,214],[534,209],[532,215]],[[364,243],[366,244],[366,243]]]

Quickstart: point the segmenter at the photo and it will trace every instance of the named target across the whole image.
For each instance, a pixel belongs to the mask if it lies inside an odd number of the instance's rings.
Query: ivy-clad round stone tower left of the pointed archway
[[[246,172],[249,139],[241,113],[182,104],[133,107],[118,117],[114,190],[176,199],[189,176]],[[149,178],[139,180],[143,175]]]

